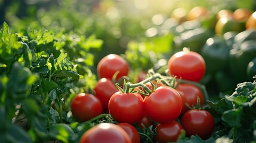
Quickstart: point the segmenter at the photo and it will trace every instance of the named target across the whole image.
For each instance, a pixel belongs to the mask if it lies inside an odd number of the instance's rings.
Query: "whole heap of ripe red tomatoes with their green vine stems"
[[[209,138],[214,130],[214,118],[207,110],[192,109],[205,102],[201,88],[193,85],[205,73],[205,62],[201,55],[181,51],[169,59],[169,77],[180,81],[173,82],[172,86],[161,79],[162,76],[154,74],[147,77],[143,73],[138,83],[124,82],[121,88],[115,85],[113,76],[119,75],[116,76],[118,79],[128,76],[128,64],[118,55],[107,56],[102,60],[98,64],[101,79],[95,85],[95,96],[76,96],[71,105],[72,114],[76,120],[84,122],[101,113],[108,113],[117,124],[100,123],[85,132],[80,142],[107,142],[113,138],[119,139],[118,142],[140,142],[135,126],[141,129],[153,126],[156,129],[153,140],[156,142],[177,141],[183,131],[187,137],[198,135],[202,139]],[[112,62],[119,65],[111,69],[110,73],[106,73],[110,69],[102,70],[107,68],[107,63]],[[88,100],[78,101],[82,97]]]

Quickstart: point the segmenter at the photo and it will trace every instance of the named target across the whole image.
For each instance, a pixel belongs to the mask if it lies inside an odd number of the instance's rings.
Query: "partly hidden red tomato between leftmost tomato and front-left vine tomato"
[[[112,79],[102,78],[98,80],[94,87],[95,97],[97,97],[102,105],[104,113],[109,113],[109,100],[110,97],[118,92],[119,89],[112,82]]]

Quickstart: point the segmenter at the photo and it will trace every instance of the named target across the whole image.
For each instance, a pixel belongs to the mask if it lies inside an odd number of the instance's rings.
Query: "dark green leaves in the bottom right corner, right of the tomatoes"
[[[217,138],[229,138],[234,142],[252,142],[256,140],[256,81],[237,85],[232,95],[226,95],[220,101],[208,102],[215,114]]]

